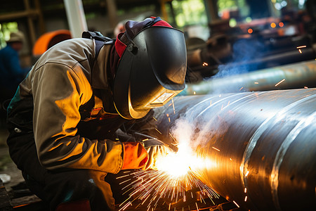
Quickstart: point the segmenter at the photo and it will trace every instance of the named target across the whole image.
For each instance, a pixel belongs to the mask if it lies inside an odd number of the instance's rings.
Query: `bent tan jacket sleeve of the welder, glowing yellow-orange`
[[[79,64],[46,63],[34,73],[34,139],[41,165],[117,173],[123,165],[121,142],[90,140],[77,134],[79,106],[91,98],[91,85]]]

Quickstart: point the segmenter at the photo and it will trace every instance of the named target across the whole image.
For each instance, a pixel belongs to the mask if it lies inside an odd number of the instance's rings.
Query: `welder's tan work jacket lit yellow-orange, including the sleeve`
[[[106,129],[117,126],[100,127],[100,135],[94,133],[100,122],[119,125],[123,121],[114,112],[109,85],[112,46],[105,44],[95,58],[93,39],[62,41],[39,58],[19,85],[8,107],[8,119],[21,124],[22,130],[25,125],[21,121],[29,124],[39,162],[46,169],[67,167],[114,174],[121,170],[122,143],[106,136],[111,133]],[[93,109],[89,110],[91,102]],[[31,120],[21,115],[27,110],[32,112]]]

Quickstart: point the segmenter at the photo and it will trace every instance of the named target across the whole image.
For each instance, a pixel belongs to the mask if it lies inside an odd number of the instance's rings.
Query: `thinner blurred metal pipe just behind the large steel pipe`
[[[285,79],[282,83],[277,84]],[[275,86],[277,84],[277,86]],[[183,95],[316,87],[316,60],[187,84]]]

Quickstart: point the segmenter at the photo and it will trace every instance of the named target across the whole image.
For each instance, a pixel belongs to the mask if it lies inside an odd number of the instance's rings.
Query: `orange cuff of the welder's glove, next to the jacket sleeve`
[[[124,142],[124,162],[122,170],[141,169],[145,167],[148,154],[138,142]]]

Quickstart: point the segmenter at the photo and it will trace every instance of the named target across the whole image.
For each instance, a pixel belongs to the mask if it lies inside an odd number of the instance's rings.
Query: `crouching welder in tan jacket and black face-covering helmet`
[[[10,155],[30,190],[51,210],[114,210],[107,174],[171,151],[131,134],[156,136],[152,108],[185,88],[186,65],[183,32],[159,17],[48,49],[8,106]]]

